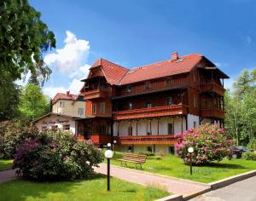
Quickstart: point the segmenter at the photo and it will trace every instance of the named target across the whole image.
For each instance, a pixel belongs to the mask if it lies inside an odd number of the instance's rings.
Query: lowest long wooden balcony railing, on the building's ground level
[[[118,145],[170,144],[177,143],[174,135],[119,136],[115,137]]]

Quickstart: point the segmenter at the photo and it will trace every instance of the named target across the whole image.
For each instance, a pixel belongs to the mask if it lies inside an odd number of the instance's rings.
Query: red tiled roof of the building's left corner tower
[[[104,59],[96,60],[95,64],[90,68],[96,66],[102,66],[102,72],[110,84],[119,84],[120,79],[129,72],[129,69]]]

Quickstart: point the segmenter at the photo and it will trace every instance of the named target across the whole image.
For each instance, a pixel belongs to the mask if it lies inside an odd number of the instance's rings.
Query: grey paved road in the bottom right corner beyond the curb
[[[256,176],[247,180],[238,181],[230,186],[207,192],[193,201],[255,201],[256,200]]]

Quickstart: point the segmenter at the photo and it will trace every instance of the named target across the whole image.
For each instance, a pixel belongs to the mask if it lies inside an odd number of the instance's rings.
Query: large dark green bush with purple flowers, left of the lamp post
[[[35,181],[74,180],[86,178],[101,162],[102,154],[93,145],[59,130],[23,141],[14,168],[18,175]]]

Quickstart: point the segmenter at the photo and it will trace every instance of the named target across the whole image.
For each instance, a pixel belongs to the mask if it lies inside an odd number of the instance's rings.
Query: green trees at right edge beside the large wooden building
[[[247,145],[256,137],[256,69],[245,69],[227,91],[225,100],[225,128],[237,145]]]

